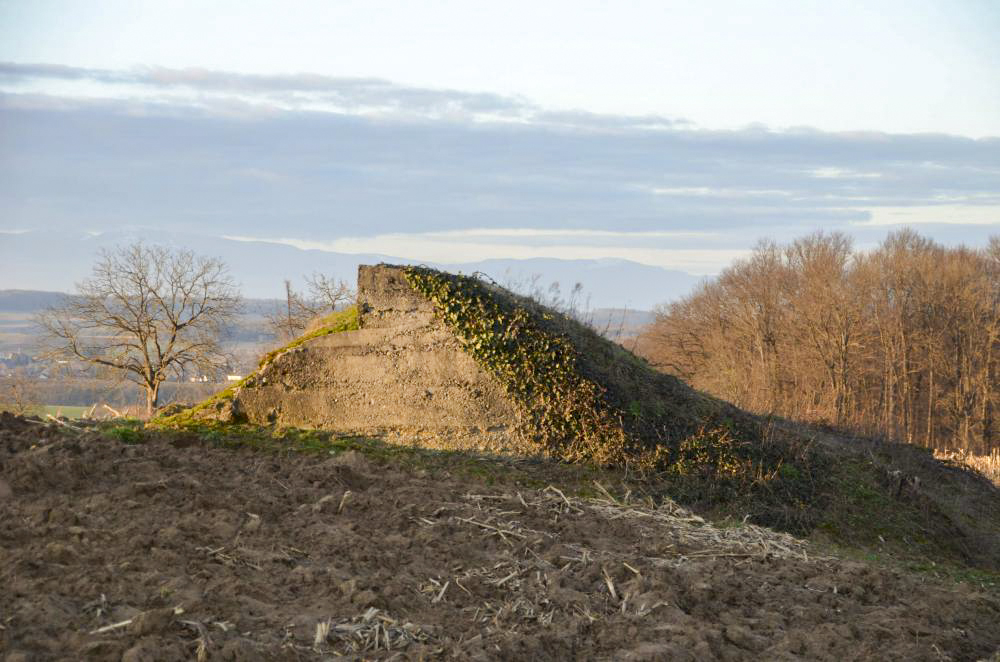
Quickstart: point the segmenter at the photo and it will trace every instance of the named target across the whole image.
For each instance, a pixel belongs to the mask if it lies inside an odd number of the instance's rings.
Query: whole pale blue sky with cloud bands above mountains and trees
[[[993,0],[0,0],[0,251],[149,227],[707,275],[817,229],[980,244],[997,34]]]

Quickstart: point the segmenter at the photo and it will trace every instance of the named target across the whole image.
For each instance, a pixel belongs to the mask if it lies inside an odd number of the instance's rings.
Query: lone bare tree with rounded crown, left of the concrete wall
[[[219,340],[239,308],[220,260],[136,243],[103,251],[76,295],[38,322],[49,357],[112,369],[145,391],[151,415],[169,376],[226,366]]]

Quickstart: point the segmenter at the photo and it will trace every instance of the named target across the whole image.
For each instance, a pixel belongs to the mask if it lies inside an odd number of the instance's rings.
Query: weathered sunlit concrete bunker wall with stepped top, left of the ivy
[[[358,269],[360,328],[323,335],[265,363],[235,393],[252,423],[511,450],[517,412],[407,283],[404,268]]]

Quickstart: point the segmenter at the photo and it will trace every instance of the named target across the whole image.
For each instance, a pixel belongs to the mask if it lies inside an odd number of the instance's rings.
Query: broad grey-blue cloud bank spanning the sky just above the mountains
[[[11,228],[138,225],[452,263],[621,257],[703,273],[758,237],[817,228],[869,241],[919,223],[976,243],[997,209],[995,138],[705,131],[375,79],[0,65]]]

